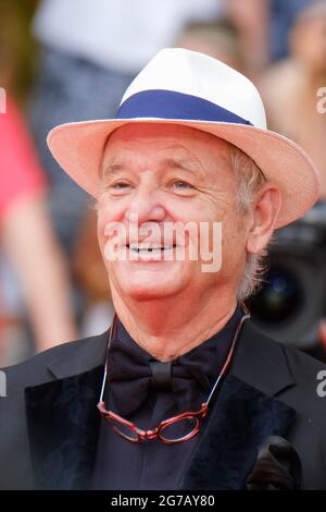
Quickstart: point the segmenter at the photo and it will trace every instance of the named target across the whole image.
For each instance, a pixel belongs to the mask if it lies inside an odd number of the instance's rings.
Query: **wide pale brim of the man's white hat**
[[[276,228],[302,217],[318,198],[318,173],[308,154],[275,132],[244,124],[158,118],[97,120],[61,124],[49,133],[49,149],[63,170],[95,198],[99,194],[99,167],[110,134],[130,123],[191,126],[224,138],[242,149],[281,194]]]

